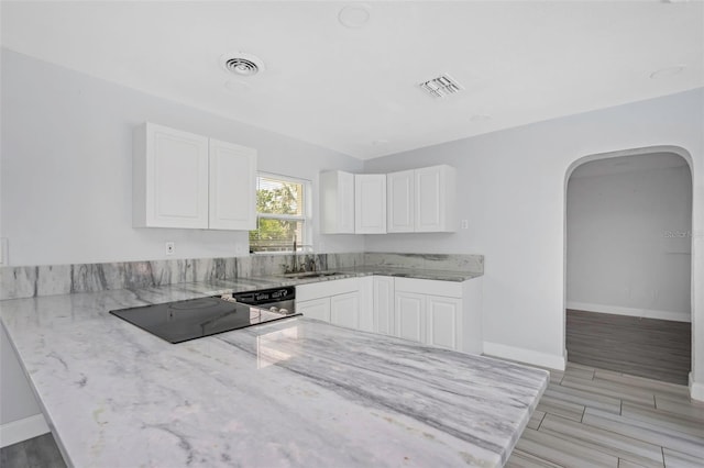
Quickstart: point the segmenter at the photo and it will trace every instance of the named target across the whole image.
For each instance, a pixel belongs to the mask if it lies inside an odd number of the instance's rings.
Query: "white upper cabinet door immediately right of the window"
[[[320,213],[323,234],[354,234],[354,174],[320,174]]]

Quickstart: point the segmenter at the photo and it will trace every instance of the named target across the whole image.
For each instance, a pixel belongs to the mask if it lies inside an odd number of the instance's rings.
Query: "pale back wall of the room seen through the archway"
[[[586,177],[581,166],[572,174],[568,309],[691,321],[692,176],[679,159],[683,166]]]

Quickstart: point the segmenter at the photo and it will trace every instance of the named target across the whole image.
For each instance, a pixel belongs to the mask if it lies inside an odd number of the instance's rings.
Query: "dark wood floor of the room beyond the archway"
[[[678,385],[692,367],[689,322],[566,311],[568,360]]]

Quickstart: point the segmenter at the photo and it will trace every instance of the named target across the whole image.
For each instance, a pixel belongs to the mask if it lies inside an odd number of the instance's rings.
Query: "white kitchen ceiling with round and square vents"
[[[359,27],[345,5],[2,1],[1,40],[361,159],[704,86],[702,1],[367,1]],[[464,89],[425,94],[441,74]]]

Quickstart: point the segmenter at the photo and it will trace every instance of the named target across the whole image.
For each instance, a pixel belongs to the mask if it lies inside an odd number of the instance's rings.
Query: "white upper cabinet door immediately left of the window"
[[[256,229],[256,149],[210,140],[212,230]]]

